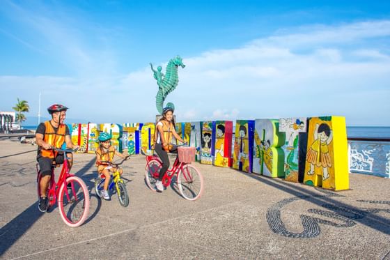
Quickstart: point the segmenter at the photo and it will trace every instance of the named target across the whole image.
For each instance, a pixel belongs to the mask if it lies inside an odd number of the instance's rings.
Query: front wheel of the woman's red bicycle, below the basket
[[[178,173],[178,187],[180,194],[189,201],[194,201],[202,196],[203,176],[192,165],[185,165]]]

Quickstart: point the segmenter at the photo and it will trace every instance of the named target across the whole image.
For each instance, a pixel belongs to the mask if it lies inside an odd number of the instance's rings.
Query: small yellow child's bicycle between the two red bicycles
[[[129,205],[129,195],[127,194],[125,182],[122,178],[120,178],[119,165],[122,165],[123,162],[127,160],[127,158],[129,158],[129,156],[124,158],[119,163],[109,161],[100,162],[100,165],[107,165],[116,168],[116,171],[114,173],[111,173],[111,181],[109,183],[108,190],[111,192],[111,194],[116,191],[116,194],[118,194],[119,204],[124,207],[127,207]],[[106,177],[104,176],[104,174],[100,174],[100,176],[95,179],[95,192],[100,198],[102,197],[102,190],[104,190],[104,181],[106,181]]]

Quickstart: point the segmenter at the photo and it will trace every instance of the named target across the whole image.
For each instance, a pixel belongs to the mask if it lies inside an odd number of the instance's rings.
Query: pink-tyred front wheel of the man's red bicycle
[[[70,189],[67,188],[71,184]],[[66,179],[59,192],[59,210],[63,222],[69,227],[79,227],[88,217],[89,193],[84,181],[76,176]]]

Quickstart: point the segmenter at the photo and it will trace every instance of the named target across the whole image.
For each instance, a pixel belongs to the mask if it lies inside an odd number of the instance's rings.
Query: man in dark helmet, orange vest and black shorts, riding
[[[48,107],[47,112],[52,115],[52,119],[40,123],[36,130],[36,144],[38,145],[37,160],[40,173],[42,174],[42,179],[40,183],[38,183],[38,185],[40,185],[38,209],[42,212],[47,211],[46,192],[52,176],[52,166],[61,165],[65,158],[63,153],[60,154],[59,152],[54,151],[53,148],[61,148],[64,142],[66,148],[74,149],[78,147],[72,144],[68,125],[63,123],[66,118],[67,109],[68,107],[59,104]],[[72,153],[69,153],[67,156],[70,158],[70,169],[73,163]]]

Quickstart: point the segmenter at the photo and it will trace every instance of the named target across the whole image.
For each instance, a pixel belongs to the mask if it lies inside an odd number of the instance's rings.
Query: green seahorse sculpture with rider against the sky
[[[171,59],[166,66],[165,75],[162,73],[162,67],[158,66],[157,70],[153,69],[152,63],[150,63],[150,68],[153,71],[153,77],[157,80],[157,85],[159,90],[156,95],[156,107],[159,114],[162,114],[162,108],[164,107],[164,101],[166,96],[171,93],[179,83],[178,77],[178,67],[185,68],[185,65],[182,63],[182,58],[176,56]],[[174,107],[173,103],[169,102],[167,107]]]

